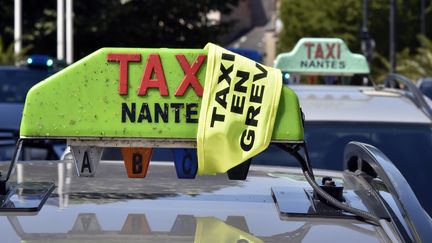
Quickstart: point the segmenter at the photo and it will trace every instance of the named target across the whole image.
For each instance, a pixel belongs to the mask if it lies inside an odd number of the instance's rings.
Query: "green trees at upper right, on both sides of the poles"
[[[279,17],[283,30],[278,51],[290,51],[302,37],[339,37],[353,52],[361,52],[362,4],[363,1],[359,0],[281,0]],[[429,4],[428,13],[431,12],[432,1]],[[371,68],[375,77],[389,71],[386,61],[389,56],[389,5],[388,0],[369,1],[368,29],[376,43]],[[427,18],[427,21],[429,28],[426,36],[430,36],[432,18]],[[416,38],[420,33],[419,1],[397,0],[395,22],[396,47],[400,52],[398,58],[412,57],[420,46]],[[404,71],[402,64],[404,62],[398,65],[398,71]]]

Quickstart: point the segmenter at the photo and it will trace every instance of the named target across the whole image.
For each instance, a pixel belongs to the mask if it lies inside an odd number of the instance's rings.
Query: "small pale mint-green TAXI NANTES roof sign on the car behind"
[[[302,38],[291,52],[277,56],[275,67],[288,73],[309,75],[370,73],[366,58],[351,53],[339,38]]]

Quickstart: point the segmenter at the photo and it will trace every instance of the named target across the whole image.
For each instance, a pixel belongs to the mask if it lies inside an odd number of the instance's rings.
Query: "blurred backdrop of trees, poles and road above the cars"
[[[432,72],[431,11],[430,0],[0,0],[0,64],[214,42],[272,66],[302,37],[340,37],[367,56],[378,82],[388,72],[417,80]]]

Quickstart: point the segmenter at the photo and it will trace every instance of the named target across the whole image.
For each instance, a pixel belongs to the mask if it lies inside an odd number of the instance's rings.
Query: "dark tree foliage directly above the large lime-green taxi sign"
[[[202,48],[207,42],[218,42],[218,36],[229,27],[229,23],[209,21],[207,14],[229,13],[237,3],[238,0],[76,1],[78,56],[103,46]],[[86,44],[89,40],[96,43]]]

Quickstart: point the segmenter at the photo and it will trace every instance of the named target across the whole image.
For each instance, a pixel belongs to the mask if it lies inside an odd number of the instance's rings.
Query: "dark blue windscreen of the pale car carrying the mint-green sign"
[[[400,170],[424,209],[432,214],[432,195],[427,188],[432,173],[432,130],[422,124],[358,122],[306,122],[305,140],[313,168],[342,170],[343,152],[350,141],[380,149]],[[272,145],[253,159],[253,164],[298,166],[292,156]]]

